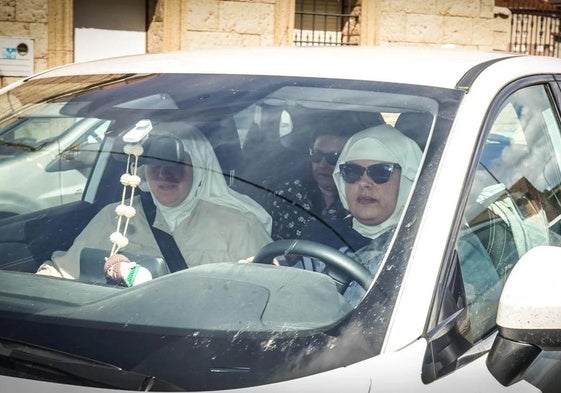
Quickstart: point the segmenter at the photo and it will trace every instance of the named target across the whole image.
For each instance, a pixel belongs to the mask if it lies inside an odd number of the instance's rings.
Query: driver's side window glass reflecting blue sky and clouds
[[[471,337],[495,326],[499,296],[519,258],[560,244],[561,133],[545,85],[509,96],[490,125],[456,243]]]

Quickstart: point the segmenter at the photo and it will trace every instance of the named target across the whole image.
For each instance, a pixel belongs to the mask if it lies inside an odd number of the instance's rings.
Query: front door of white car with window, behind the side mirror
[[[435,292],[425,383],[489,373],[481,365],[496,336],[505,280],[530,249],[561,245],[557,95],[552,77],[532,77],[505,88],[488,112],[450,242],[454,248]],[[544,352],[523,379],[544,392],[559,391],[560,365],[559,353]]]

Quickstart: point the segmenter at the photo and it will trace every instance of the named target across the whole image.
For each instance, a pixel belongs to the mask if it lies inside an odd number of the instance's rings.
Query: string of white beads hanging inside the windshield
[[[136,215],[136,209],[132,206],[132,202],[135,189],[140,185],[140,176],[138,176],[137,174],[138,157],[142,155],[144,149],[139,143],[129,143],[125,145],[123,150],[125,154],[127,154],[127,169],[120,178],[121,184],[123,185],[123,194],[121,196],[121,203],[115,208],[115,213],[117,213],[118,217],[117,229],[109,237],[109,239],[113,243],[109,256],[115,255],[121,248],[124,248],[129,244],[129,239],[127,238],[127,228],[129,226],[130,219]],[[134,162],[132,163],[131,158],[134,158]],[[127,205],[126,201],[129,190],[130,196],[128,197],[129,203]],[[125,218],[124,220],[123,217]],[[123,225],[122,231],[121,225]]]

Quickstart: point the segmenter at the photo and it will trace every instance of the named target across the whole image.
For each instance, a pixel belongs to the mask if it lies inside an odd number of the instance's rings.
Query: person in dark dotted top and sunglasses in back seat
[[[309,170],[285,181],[265,202],[265,209],[273,218],[273,240],[300,238],[311,220],[339,219],[347,214],[332,175],[349,137],[345,130],[330,128],[314,133]]]

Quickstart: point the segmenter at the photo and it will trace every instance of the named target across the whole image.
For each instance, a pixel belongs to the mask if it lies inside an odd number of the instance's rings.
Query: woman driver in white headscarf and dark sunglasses
[[[309,238],[351,254],[375,274],[409,197],[421,155],[412,139],[387,124],[352,136],[333,172],[339,198],[350,215],[329,231],[312,224]],[[321,266],[315,270],[322,270]],[[352,282],[345,298],[354,306],[363,294]]]

